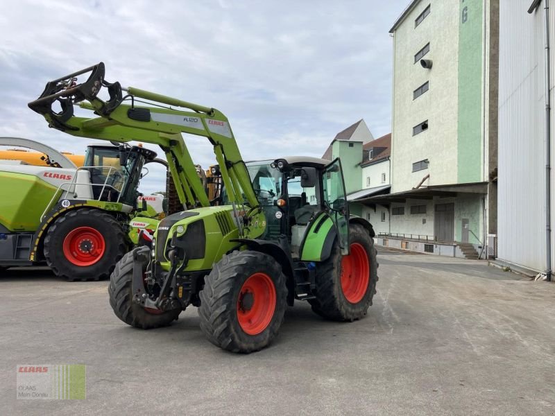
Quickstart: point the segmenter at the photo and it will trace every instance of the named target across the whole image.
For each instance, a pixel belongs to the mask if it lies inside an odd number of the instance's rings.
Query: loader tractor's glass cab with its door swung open
[[[266,216],[263,239],[287,236],[291,254],[298,258],[307,229],[331,218],[348,252],[348,205],[339,159],[282,157],[248,162],[247,168]]]

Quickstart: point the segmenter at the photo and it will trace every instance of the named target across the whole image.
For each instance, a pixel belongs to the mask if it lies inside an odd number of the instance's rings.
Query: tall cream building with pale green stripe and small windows
[[[496,232],[498,4],[413,0],[391,28],[389,245],[475,257]]]

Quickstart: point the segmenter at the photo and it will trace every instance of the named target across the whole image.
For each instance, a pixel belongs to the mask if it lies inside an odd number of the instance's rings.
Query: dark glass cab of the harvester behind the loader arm
[[[155,157],[155,152],[139,146],[92,145],[80,170],[89,172],[93,199],[135,206],[142,168]]]

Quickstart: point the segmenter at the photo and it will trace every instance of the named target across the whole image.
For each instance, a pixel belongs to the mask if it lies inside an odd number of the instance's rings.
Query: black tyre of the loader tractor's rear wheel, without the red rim
[[[336,321],[354,321],[364,318],[376,293],[377,261],[374,240],[359,224],[350,225],[350,243],[361,245],[368,255],[370,276],[366,293],[361,300],[351,303],[341,288],[341,251],[335,241],[330,257],[316,266],[316,299],[309,300],[312,310],[323,318]]]

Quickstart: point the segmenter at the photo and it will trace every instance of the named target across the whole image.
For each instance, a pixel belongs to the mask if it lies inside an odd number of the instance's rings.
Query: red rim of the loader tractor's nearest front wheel
[[[246,279],[237,299],[237,320],[248,335],[257,335],[272,322],[275,311],[275,286],[265,273]]]

